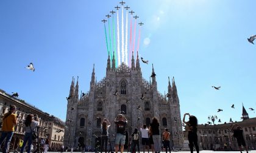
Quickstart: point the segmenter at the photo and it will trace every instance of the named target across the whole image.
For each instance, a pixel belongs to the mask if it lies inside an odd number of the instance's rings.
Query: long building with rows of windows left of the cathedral
[[[50,121],[54,120],[55,117],[50,116],[48,113],[43,112],[31,104],[26,103],[24,100],[12,97],[10,94],[7,94],[4,90],[0,89],[0,125],[2,127],[2,117],[5,113],[9,111],[10,104],[15,104],[17,117],[20,118],[19,123],[15,126],[15,132],[10,143],[10,149],[18,148],[20,140],[24,139],[24,124],[23,121],[26,120],[28,114],[37,114],[39,117],[39,137],[46,138],[50,137],[52,129],[49,128]],[[62,128],[64,128],[62,122]],[[0,131],[0,134],[2,132]],[[63,143],[63,140],[62,140]],[[4,143],[2,143],[3,145]]]

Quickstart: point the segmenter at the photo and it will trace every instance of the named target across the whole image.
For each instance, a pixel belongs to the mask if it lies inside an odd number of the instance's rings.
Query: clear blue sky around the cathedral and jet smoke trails
[[[72,77],[87,92],[95,64],[105,76],[107,49],[101,20],[119,1],[0,1],[0,88],[65,120]],[[181,114],[206,123],[218,115],[240,121],[256,109],[255,1],[128,1],[144,22],[140,56],[149,80],[154,63],[158,90],[175,78]],[[35,72],[24,67],[34,63]],[[221,86],[215,90],[212,86]],[[230,106],[235,104],[235,109]],[[217,113],[217,109],[223,112]]]

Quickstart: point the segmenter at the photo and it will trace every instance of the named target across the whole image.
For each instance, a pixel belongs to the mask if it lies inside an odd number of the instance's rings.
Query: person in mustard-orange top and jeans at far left
[[[4,114],[4,117],[2,118],[2,134],[0,138],[0,146],[2,142],[5,139],[4,148],[2,149],[2,152],[9,152],[9,145],[10,141],[12,140],[12,135],[14,133],[14,126],[18,123],[16,118],[16,106],[10,105],[10,110],[6,114]]]

